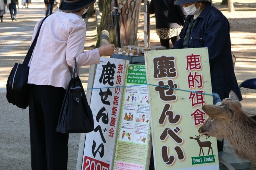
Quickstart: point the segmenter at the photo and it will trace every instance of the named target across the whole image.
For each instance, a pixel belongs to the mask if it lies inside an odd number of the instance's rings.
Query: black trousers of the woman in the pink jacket
[[[29,124],[32,170],[66,170],[68,134],[56,132],[66,90],[29,86]]]

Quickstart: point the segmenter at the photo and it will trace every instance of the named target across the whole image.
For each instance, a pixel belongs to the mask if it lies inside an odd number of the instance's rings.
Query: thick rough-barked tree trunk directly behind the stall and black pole
[[[140,0],[118,0],[119,9],[119,24],[120,24],[120,40],[121,47],[125,45],[137,45],[137,32],[140,14]],[[109,32],[109,40],[111,44],[116,46],[116,30],[115,27],[110,27],[113,24],[111,11],[114,9],[114,2],[112,0],[104,0],[102,19],[100,21],[100,28],[98,35],[102,30]],[[99,46],[100,37],[97,39],[96,46]]]

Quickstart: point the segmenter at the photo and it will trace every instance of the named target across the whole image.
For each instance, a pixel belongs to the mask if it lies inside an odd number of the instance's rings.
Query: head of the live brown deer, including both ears
[[[242,105],[232,90],[229,98],[218,102],[216,105],[204,105],[202,109],[209,118],[199,128],[199,133],[220,138],[228,135],[227,129],[234,126],[234,121],[243,114]]]

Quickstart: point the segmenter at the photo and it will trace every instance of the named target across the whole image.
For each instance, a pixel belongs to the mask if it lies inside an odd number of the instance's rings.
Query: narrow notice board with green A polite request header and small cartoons
[[[129,65],[118,129],[114,170],[146,170],[150,111],[145,65]]]

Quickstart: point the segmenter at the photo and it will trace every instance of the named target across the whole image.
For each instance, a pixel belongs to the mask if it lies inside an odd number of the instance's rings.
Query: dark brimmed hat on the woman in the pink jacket
[[[93,4],[96,0],[63,0],[60,10],[64,12],[76,12]]]

